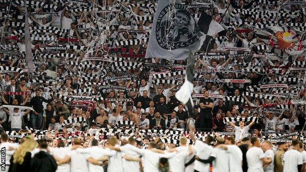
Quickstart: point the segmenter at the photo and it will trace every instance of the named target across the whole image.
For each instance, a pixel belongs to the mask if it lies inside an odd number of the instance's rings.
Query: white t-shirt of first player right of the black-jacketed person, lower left
[[[50,153],[58,158],[65,158],[65,156],[68,154],[68,152],[70,151],[70,147],[49,147]],[[70,164],[69,163],[65,163],[62,164],[60,166],[57,166],[57,170],[56,172],[70,172]]]

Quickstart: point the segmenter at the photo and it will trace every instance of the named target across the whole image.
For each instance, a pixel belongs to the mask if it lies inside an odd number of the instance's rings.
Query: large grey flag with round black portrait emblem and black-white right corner
[[[172,1],[158,1],[146,58],[186,59],[190,50],[195,52],[202,47],[201,44],[206,39],[210,40],[211,37],[206,38],[206,35],[214,36],[215,33],[223,29],[204,12],[205,15],[202,14],[203,17],[201,15],[199,19],[201,27],[204,28],[200,28],[186,5],[170,4]],[[203,24],[201,20],[209,23]],[[214,22],[218,25],[215,25]],[[210,25],[210,23],[212,24]]]

